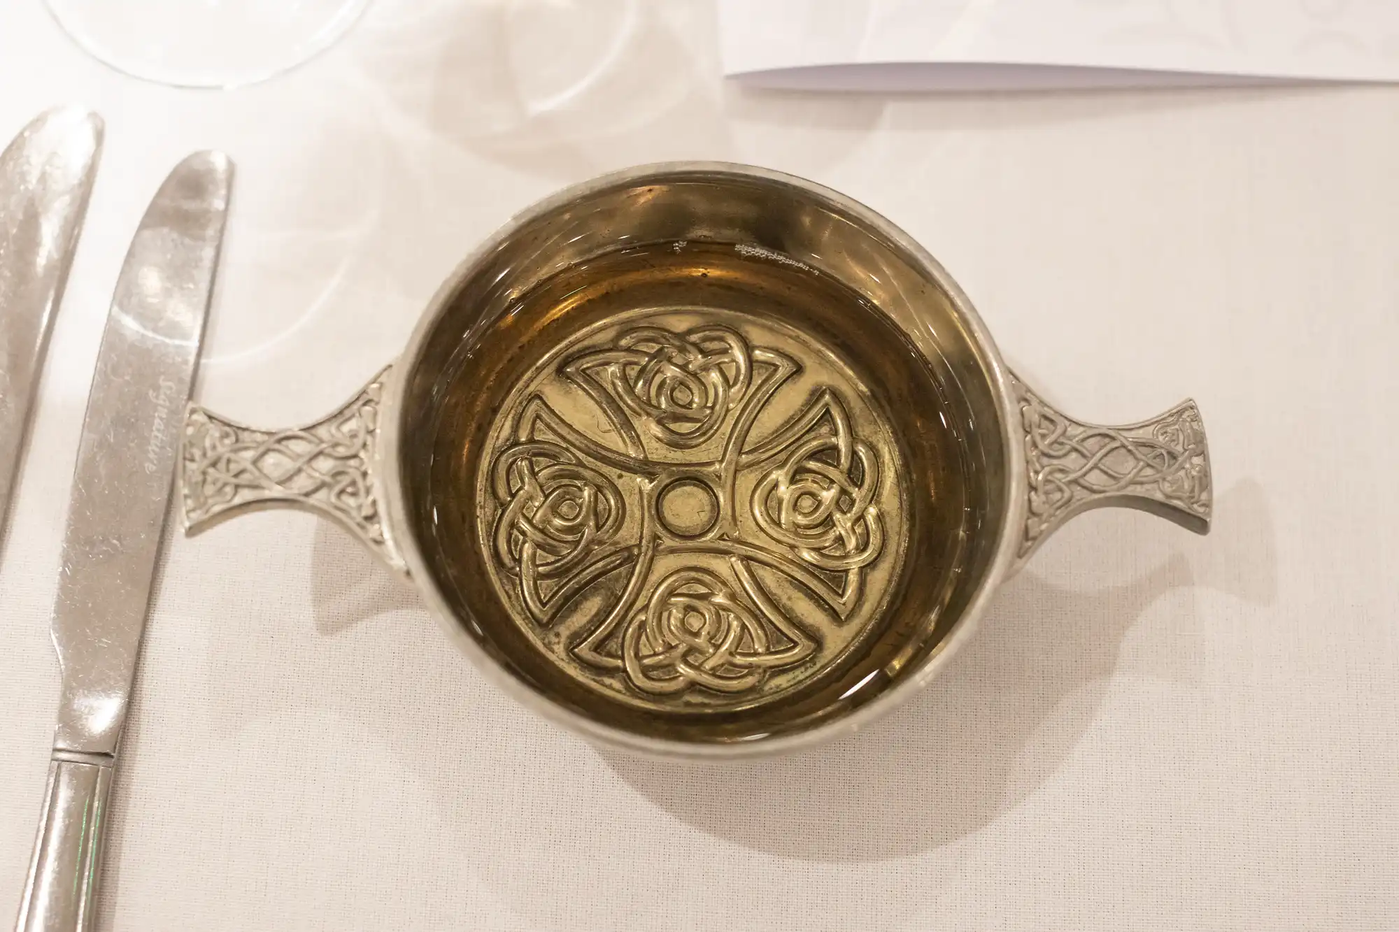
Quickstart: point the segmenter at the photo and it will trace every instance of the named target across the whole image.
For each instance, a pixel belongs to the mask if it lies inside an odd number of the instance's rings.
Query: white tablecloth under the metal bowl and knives
[[[238,162],[197,397],[326,413],[511,213],[623,165],[755,162],[919,238],[1069,413],[1193,395],[1216,529],[1095,512],[912,705],[739,767],[516,707],[336,528],[173,539],[102,928],[1399,928],[1399,88],[743,92],[701,0],[375,0],[236,92],[0,11],[0,134],[80,101],[106,154],[0,563],[0,917],[29,858],[48,619],[101,325],[187,151]]]

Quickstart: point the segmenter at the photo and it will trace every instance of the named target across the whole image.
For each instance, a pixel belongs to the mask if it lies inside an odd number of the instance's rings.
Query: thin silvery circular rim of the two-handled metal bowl
[[[403,477],[399,469],[399,444],[403,393],[411,372],[417,368],[422,348],[428,336],[434,330],[443,311],[450,305],[460,285],[470,277],[476,267],[490,255],[498,250],[506,241],[527,224],[550,214],[567,204],[581,200],[611,188],[644,183],[646,179],[674,179],[683,175],[750,178],[765,182],[775,182],[796,188],[807,196],[830,202],[834,207],[849,214],[859,224],[876,231],[894,243],[908,259],[911,259],[923,273],[926,273],[951,301],[954,312],[961,318],[972,340],[982,348],[988,361],[992,390],[996,395],[996,404],[1000,413],[1002,442],[1006,449],[1006,476],[1003,493],[1007,497],[1007,508],[1000,526],[996,528],[999,540],[995,544],[992,561],[978,582],[967,607],[960,617],[953,621],[951,630],[943,641],[933,649],[922,666],[911,676],[886,689],[883,693],[855,708],[849,714],[816,725],[814,728],[797,730],[789,735],[762,736],[750,740],[732,743],[690,742],[672,737],[652,737],[637,732],[616,728],[589,718],[565,705],[555,702],[547,696],[530,689],[519,677],[505,669],[495,658],[484,651],[464,630],[456,612],[448,605],[436,582],[434,581],[427,560],[409,529],[407,505],[403,494]],[[429,612],[436,619],[439,627],[448,638],[471,661],[477,670],[504,693],[519,701],[529,709],[539,712],[546,719],[583,737],[600,742],[611,747],[637,751],[641,754],[663,758],[688,760],[741,760],[754,757],[771,757],[796,750],[828,743],[837,737],[849,735],[867,726],[905,704],[914,694],[921,691],[929,680],[949,662],[949,659],[972,635],[977,624],[990,600],[992,593],[1006,578],[1014,561],[1018,535],[1013,530],[1024,523],[1028,479],[1024,466],[1024,444],[1020,428],[1020,413],[1016,395],[1010,383],[1009,369],[1000,355],[995,340],[982,322],[981,315],[972,306],[971,299],[961,290],[957,281],[947,273],[923,246],[912,236],[894,225],[890,220],[876,213],[860,202],[842,195],[817,182],[755,165],[725,161],[673,161],[649,162],[635,165],[621,171],[597,175],[588,181],[569,185],[561,190],[534,202],[525,210],[512,216],[495,232],[487,236],[476,249],[456,264],[452,273],[443,280],[441,287],[422,309],[422,315],[414,325],[403,353],[392,365],[388,385],[385,386],[383,411],[381,420],[381,444],[376,451],[378,495],[385,504],[386,525],[404,563],[413,585],[422,595]]]

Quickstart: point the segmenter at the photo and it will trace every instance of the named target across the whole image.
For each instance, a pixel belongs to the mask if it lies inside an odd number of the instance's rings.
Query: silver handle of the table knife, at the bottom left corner
[[[64,754],[66,751],[56,751]],[[106,837],[106,763],[55,758],[15,932],[87,932],[97,926],[97,882]]]

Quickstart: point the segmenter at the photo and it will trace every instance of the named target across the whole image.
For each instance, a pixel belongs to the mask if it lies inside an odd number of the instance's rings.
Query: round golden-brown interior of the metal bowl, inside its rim
[[[915,676],[988,581],[1007,456],[988,350],[900,239],[720,168],[527,214],[406,360],[418,582],[641,737],[792,735]]]

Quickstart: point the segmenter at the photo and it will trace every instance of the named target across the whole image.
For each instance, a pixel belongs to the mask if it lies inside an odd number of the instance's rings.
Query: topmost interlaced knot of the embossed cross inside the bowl
[[[727,327],[635,327],[616,347],[574,360],[565,372],[604,407],[620,404],[652,437],[693,449],[719,431],[748,390],[751,357],[744,339]],[[639,441],[628,420],[618,423]]]

